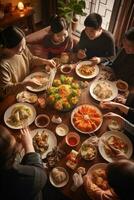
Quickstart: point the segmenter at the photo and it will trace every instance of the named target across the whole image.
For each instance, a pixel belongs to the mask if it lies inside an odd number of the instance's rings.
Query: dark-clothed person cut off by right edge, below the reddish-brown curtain
[[[134,27],[125,33],[123,48],[117,54],[111,68],[117,79],[134,86]]]

